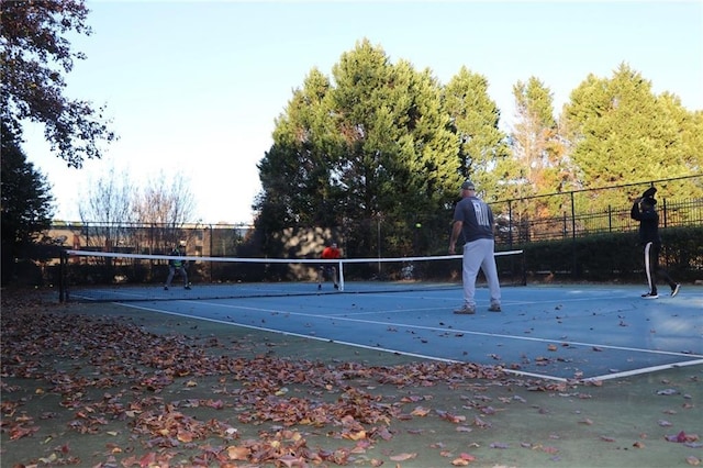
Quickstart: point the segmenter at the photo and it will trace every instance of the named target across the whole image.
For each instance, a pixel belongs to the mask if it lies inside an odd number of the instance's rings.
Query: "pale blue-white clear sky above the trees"
[[[313,67],[332,77],[342,54],[368,38],[391,62],[429,68],[447,83],[461,66],[483,75],[511,127],[512,87],[535,76],[556,114],[589,74],[611,78],[626,63],[703,110],[701,1],[88,1],[93,34],[66,76],[67,96],[107,104],[120,141],[70,169],[43,129],[23,148],[46,175],[55,219],[80,221],[91,181],[114,168],[144,186],[183,174],[193,222],[249,223],[260,190],[257,163],[294,89]]]

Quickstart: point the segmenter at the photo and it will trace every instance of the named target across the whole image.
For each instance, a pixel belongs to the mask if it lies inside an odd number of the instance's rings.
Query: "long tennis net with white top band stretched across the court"
[[[169,260],[178,272],[165,289]],[[496,252],[502,286],[525,285],[523,250]],[[319,285],[321,267],[323,280]],[[336,271],[331,271],[334,267]],[[337,287],[334,285],[336,272]],[[461,256],[395,258],[241,258],[66,250],[62,257],[60,300],[158,301],[245,297],[371,293],[461,287]],[[484,282],[479,275],[479,285]],[[186,289],[189,286],[190,289]]]

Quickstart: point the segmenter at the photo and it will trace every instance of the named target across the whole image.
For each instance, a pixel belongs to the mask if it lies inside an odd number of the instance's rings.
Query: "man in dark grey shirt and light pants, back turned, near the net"
[[[476,278],[479,269],[488,281],[491,312],[501,311],[501,287],[495,266],[495,241],[493,237],[493,211],[476,196],[476,186],[467,180],[461,185],[461,200],[454,210],[454,224],[449,238],[449,255],[456,249],[459,235],[464,235],[464,257],[461,260],[461,281],[464,286],[464,305],[454,311],[457,314],[476,313]]]

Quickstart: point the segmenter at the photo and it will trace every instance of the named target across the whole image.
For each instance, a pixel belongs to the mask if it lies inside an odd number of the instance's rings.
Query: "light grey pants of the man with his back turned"
[[[501,304],[501,286],[498,280],[498,268],[493,255],[492,238],[479,238],[464,245],[461,280],[464,282],[464,303],[476,308],[476,278],[479,269],[483,270],[491,293],[491,305]]]

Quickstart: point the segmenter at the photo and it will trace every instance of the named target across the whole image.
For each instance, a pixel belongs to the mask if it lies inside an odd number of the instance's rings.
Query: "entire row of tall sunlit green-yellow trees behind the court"
[[[513,93],[518,121],[507,137],[483,76],[461,67],[442,86],[429,70],[357,43],[332,78],[313,69],[277,120],[259,163],[256,238],[270,254],[284,250],[276,233],[333,229],[347,256],[443,253],[465,178],[490,202],[512,200],[513,225],[610,213],[644,181],[661,182],[661,199],[703,197],[691,177],[701,171],[703,113],[655,96],[627,65],[610,79],[589,76],[559,120],[536,77]],[[626,193],[606,189],[623,185]],[[494,204],[505,220],[506,203]]]

